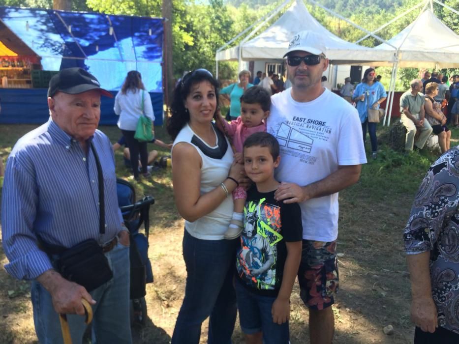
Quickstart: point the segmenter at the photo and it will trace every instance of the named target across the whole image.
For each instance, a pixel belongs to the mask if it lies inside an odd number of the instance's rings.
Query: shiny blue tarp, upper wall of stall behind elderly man
[[[161,18],[0,7],[0,20],[40,57],[43,70],[82,67],[111,91],[121,88],[128,71],[138,70],[152,95],[155,124],[162,124]],[[18,96],[23,94],[23,90],[17,91]],[[46,104],[46,95],[42,101]],[[7,115],[5,111],[9,113],[3,108],[1,116]],[[40,109],[36,115],[41,113]],[[28,113],[16,115],[20,114]],[[5,123],[3,118],[0,122]]]

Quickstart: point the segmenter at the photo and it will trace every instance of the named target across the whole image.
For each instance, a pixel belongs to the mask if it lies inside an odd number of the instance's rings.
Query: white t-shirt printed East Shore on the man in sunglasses
[[[340,165],[367,162],[357,110],[325,89],[316,99],[300,103],[291,89],[271,97],[267,132],[280,146],[277,180],[306,186],[324,179]],[[338,236],[338,193],[300,203],[303,239],[334,241]]]

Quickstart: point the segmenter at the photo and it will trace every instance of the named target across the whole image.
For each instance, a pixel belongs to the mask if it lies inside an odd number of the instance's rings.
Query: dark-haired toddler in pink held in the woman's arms
[[[216,125],[231,140],[236,151],[235,157],[238,160],[243,158],[243,145],[245,139],[253,133],[266,132],[265,119],[268,117],[271,108],[271,95],[260,86],[247,88],[241,97],[241,115],[227,122],[221,115],[218,115]],[[237,181],[235,180],[237,183]],[[233,191],[234,211],[229,228],[224,233],[225,239],[234,239],[243,230],[243,211],[247,194],[243,187],[239,186]]]

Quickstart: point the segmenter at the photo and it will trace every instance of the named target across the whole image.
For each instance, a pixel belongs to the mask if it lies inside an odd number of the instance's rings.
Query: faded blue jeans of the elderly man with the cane
[[[105,256],[113,271],[113,278],[92,290],[97,301],[92,306],[92,343],[131,344],[129,320],[129,248],[118,245]],[[31,287],[33,321],[38,341],[41,344],[63,343],[59,315],[53,308],[50,293],[38,282]],[[82,343],[86,330],[85,317],[67,315],[68,327],[73,343]]]

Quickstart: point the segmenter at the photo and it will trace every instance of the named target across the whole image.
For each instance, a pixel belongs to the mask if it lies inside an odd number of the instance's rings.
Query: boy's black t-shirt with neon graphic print
[[[301,241],[301,209],[298,203],[275,201],[274,191],[247,191],[244,230],[238,248],[236,268],[245,287],[267,296],[277,296],[282,283],[287,247],[285,242]]]

